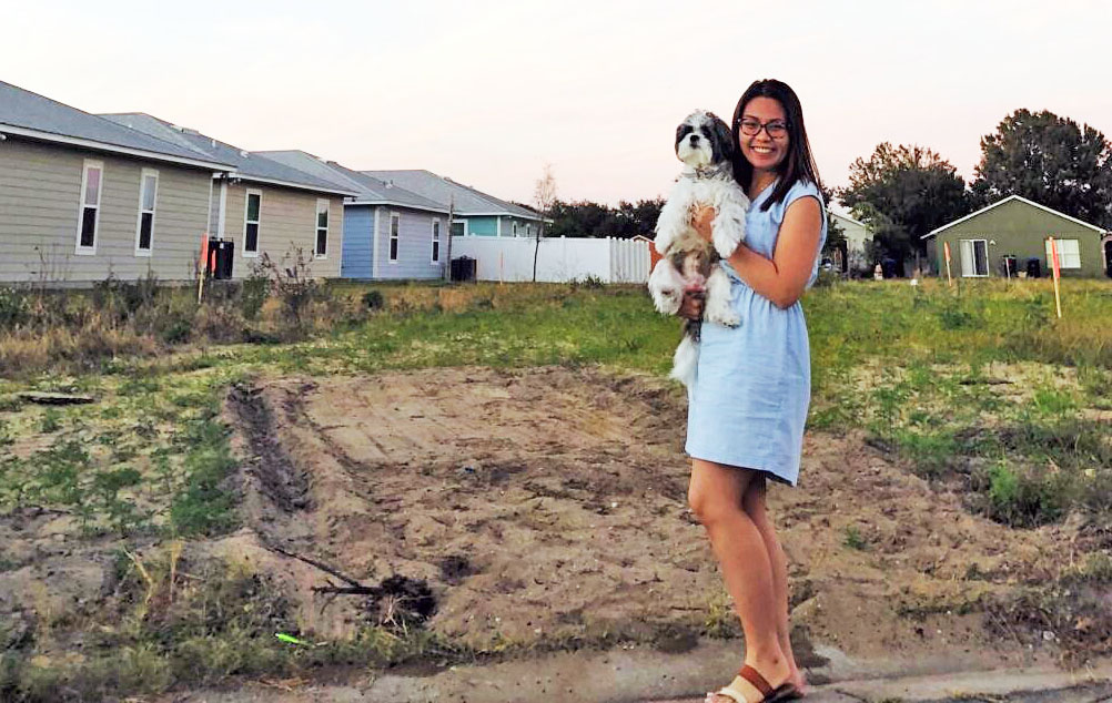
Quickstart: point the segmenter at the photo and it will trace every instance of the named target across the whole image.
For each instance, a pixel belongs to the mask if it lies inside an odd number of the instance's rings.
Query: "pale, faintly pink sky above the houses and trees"
[[[827,187],[883,141],[970,181],[1016,109],[1112,138],[1112,2],[375,0],[6,3],[0,80],[237,147],[428,169],[532,202],[667,193],[675,127],[796,91]]]

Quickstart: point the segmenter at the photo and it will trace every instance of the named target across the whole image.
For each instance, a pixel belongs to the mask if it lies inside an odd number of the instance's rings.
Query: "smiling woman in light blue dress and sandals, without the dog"
[[[688,501],[703,523],[745,632],[745,661],[714,703],[804,695],[788,641],[787,568],[765,506],[770,479],[795,485],[811,400],[807,328],[798,299],[826,239],[818,173],[795,92],[756,81],[734,111],[734,178],[752,204],[745,243],[723,261],[742,324],[704,324],[691,389]],[[709,239],[714,211],[695,215]],[[681,314],[698,317],[685,299]]]

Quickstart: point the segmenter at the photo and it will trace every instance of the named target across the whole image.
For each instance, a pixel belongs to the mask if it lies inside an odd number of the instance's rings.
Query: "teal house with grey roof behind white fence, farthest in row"
[[[536,237],[537,212],[425,170],[363,171],[450,208],[453,237]]]

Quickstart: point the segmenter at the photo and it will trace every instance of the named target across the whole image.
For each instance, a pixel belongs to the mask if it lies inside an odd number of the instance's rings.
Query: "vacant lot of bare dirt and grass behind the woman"
[[[801,653],[1101,653],[1112,295],[1058,323],[1033,285],[922,288],[806,301],[814,430],[772,496]],[[738,636],[674,321],[635,289],[375,290],[324,338],[0,382],[0,692]]]

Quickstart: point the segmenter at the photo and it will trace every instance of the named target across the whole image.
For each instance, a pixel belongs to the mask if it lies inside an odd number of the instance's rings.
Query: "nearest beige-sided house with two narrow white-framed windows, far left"
[[[222,157],[0,82],[0,283],[188,279]]]

